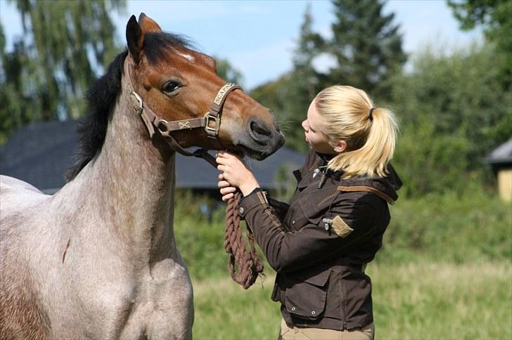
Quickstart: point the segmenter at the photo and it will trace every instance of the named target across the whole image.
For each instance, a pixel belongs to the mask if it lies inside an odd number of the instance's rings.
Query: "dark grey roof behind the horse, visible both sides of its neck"
[[[77,122],[41,122],[20,129],[0,148],[0,174],[19,178],[39,190],[52,193],[65,184],[64,172],[77,151]],[[247,159],[262,188],[277,189],[279,174],[304,163],[305,155],[281,148],[262,162]],[[196,157],[177,155],[178,188],[217,190],[219,171]]]

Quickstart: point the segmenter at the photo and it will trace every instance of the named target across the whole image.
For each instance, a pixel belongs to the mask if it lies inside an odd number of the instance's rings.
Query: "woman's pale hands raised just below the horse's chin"
[[[229,189],[230,187],[240,188],[244,196],[249,195],[252,190],[260,187],[252,171],[237,156],[221,150],[217,153],[216,161],[219,164],[217,169],[222,172],[219,175],[219,188],[221,188],[221,194],[224,195],[222,200],[224,200],[225,196],[231,196],[230,194],[235,191]],[[227,182],[227,185],[224,182]]]

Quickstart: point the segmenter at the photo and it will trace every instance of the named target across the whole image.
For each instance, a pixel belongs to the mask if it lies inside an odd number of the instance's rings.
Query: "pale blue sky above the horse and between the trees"
[[[120,41],[124,39],[130,15],[138,18],[144,12],[163,30],[191,38],[200,51],[229,60],[243,74],[244,88],[250,90],[290,70],[308,3],[313,29],[328,37],[334,20],[328,0],[128,0],[124,13],[113,15],[114,34]],[[427,45],[449,52],[482,39],[479,30],[459,30],[444,0],[391,0],[383,11],[395,13],[394,23],[400,25],[403,48],[410,55]],[[15,7],[6,0],[0,0],[0,21],[9,50],[13,37],[20,35],[22,28]],[[328,58],[315,60],[319,70],[330,63]]]

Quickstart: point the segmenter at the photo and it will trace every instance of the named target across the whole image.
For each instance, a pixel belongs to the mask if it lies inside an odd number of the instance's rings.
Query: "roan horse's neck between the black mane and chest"
[[[175,254],[173,230],[174,152],[160,152],[129,98],[125,70],[122,93],[110,117],[105,142],[84,170],[106,228],[147,251],[149,260]],[[82,171],[84,171],[82,170]],[[170,253],[169,253],[170,252]]]

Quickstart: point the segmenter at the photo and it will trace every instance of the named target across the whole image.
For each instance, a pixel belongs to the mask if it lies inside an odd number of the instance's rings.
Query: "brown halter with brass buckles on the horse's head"
[[[221,89],[217,92],[217,96],[215,96],[212,105],[210,106],[210,111],[206,112],[203,117],[200,118],[191,118],[191,119],[181,119],[174,120],[168,122],[165,119],[158,117],[158,115],[151,110],[149,107],[143,105],[143,101],[141,96],[135,92],[135,88],[132,84],[132,65],[129,65],[129,81],[132,87],[130,90],[130,98],[132,99],[132,103],[134,104],[134,109],[137,115],[141,116],[144,125],[146,125],[146,129],[148,129],[148,133],[150,138],[153,138],[155,133],[160,133],[160,136],[164,137],[172,150],[179,152],[184,156],[194,156],[205,159],[207,162],[212,164],[212,166],[217,167],[217,162],[215,162],[215,158],[212,157],[207,150],[198,149],[194,152],[189,152],[185,150],[174,137],[171,136],[172,131],[183,131],[183,130],[191,130],[196,128],[203,128],[207,133],[208,138],[212,138],[217,143],[217,147],[219,149],[223,149],[221,143],[219,142],[219,128],[221,122],[221,114],[222,108],[224,107],[224,103],[226,102],[226,98],[234,90],[241,90],[242,88],[237,84],[227,83],[222,86]]]

